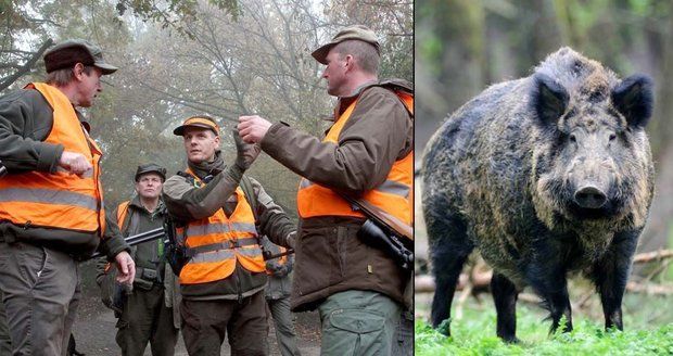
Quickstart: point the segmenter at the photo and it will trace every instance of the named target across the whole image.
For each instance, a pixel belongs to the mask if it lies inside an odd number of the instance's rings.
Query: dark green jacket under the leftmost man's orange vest
[[[81,114],[75,110],[82,122]],[[37,90],[21,89],[0,98],[0,161],[9,174],[39,170],[54,173],[63,153],[62,144],[43,142],[53,125],[52,110]],[[105,233],[74,232],[0,223],[0,241],[27,241],[86,258],[97,249],[113,259],[129,246],[124,242],[114,219],[106,215]]]

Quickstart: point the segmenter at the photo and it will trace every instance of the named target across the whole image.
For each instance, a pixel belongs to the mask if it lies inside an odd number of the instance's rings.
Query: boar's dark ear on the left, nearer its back
[[[539,120],[556,124],[568,106],[568,91],[549,76],[537,73],[533,77],[532,104]]]

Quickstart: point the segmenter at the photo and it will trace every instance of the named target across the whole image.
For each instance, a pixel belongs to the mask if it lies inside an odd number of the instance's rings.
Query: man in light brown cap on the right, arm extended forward
[[[313,56],[339,98],[326,137],[256,115],[239,118],[239,134],[303,177],[292,308],[318,308],[321,354],[390,355],[409,276],[357,238],[366,217],[336,192],[411,225],[411,85],[378,79],[379,42],[365,26],[344,28]]]

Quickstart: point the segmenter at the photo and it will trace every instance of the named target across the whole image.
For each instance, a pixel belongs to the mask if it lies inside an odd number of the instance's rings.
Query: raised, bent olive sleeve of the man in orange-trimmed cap
[[[241,168],[231,165],[201,188],[190,185],[185,177],[173,176],[164,183],[164,203],[168,213],[178,219],[189,221],[206,218],[224,206],[242,176]]]

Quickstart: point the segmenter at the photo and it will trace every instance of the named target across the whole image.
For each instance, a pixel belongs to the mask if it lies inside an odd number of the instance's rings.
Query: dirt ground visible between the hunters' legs
[[[320,354],[320,321],[317,313],[301,313],[296,316],[296,331],[300,336],[299,347],[303,356]],[[120,351],[115,343],[115,319],[112,310],[105,308],[98,295],[85,294],[79,304],[77,321],[73,328],[77,351],[87,356],[113,356],[119,355]],[[270,355],[280,355],[276,342],[276,333],[272,322],[269,327]],[[148,347],[145,355],[152,353]],[[180,335],[176,356],[186,356],[187,351]],[[229,347],[225,342],[223,355],[229,355]]]

